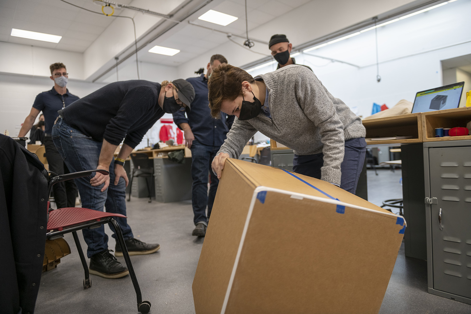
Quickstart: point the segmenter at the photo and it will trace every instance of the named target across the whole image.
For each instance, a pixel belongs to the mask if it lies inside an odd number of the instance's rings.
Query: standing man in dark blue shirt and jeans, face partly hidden
[[[227,116],[225,113],[221,113],[221,119],[212,118],[208,106],[208,79],[211,77],[212,69],[223,63],[227,63],[224,56],[211,56],[206,66],[206,74],[187,79],[195,88],[195,100],[191,104],[191,111],[187,111],[188,117],[185,116],[184,111],[173,114],[173,120],[184,131],[187,147],[191,149],[191,176],[193,178],[191,201],[195,214],[193,218],[195,229],[192,234],[196,236],[206,234],[208,219],[218,189],[219,179],[212,171],[209,171],[211,161],[224,143],[226,134],[234,122],[234,116]],[[209,196],[208,172],[211,173]],[[208,207],[207,216],[206,206]]]

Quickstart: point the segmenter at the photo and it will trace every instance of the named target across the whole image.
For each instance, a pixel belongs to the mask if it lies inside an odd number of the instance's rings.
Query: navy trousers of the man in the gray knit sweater
[[[345,141],[345,154],[340,169],[342,172],[340,187],[355,194],[358,178],[363,169],[366,154],[365,137]],[[293,171],[301,175],[321,178],[321,167],[324,165],[324,154],[296,155],[293,158]]]

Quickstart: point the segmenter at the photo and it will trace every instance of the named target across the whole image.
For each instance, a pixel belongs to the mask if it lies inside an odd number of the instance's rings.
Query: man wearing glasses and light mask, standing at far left
[[[32,128],[36,117],[42,111],[44,113],[44,142],[46,146],[46,159],[48,160],[49,170],[63,175],[69,173],[56,146],[52,142],[51,132],[54,121],[57,119],[57,111],[72,104],[79,97],[69,93],[65,87],[67,85],[68,73],[63,63],[54,63],[49,66],[51,70],[50,79],[54,81],[54,87],[51,90],[42,92],[34,100],[31,112],[24,119],[23,126],[20,129],[19,137],[24,137]],[[54,199],[57,208],[75,207],[75,197],[77,195],[77,186],[73,180],[59,182],[54,185]]]

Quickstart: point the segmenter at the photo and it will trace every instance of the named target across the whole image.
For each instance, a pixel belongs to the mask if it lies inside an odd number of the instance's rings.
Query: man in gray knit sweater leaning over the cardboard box
[[[293,149],[293,171],[355,193],[365,161],[361,119],[333,97],[316,75],[300,65],[285,66],[252,78],[223,64],[208,82],[211,115],[237,118],[212,162],[218,177],[227,158],[239,158],[260,131]]]

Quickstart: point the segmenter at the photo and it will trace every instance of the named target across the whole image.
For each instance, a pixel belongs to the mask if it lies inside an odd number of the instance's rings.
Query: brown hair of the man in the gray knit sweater
[[[242,95],[242,82],[253,83],[252,75],[230,64],[221,64],[211,72],[208,99],[211,116],[219,119],[223,100],[233,101]]]

